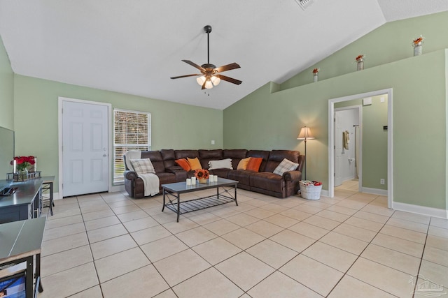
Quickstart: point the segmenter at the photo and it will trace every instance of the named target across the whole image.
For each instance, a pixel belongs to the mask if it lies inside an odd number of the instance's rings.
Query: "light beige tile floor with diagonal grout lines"
[[[238,190],[238,202],[176,223],[162,196],[57,200],[38,297],[424,297],[416,285],[448,285],[447,220],[351,184],[316,201]]]

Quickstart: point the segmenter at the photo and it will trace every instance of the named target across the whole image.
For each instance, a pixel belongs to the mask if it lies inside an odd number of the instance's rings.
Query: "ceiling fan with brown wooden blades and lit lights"
[[[179,75],[179,77],[171,77],[171,78],[179,79],[181,77],[194,77],[196,75],[200,75],[200,77],[197,77],[196,81],[198,84],[200,84],[202,86],[201,89],[211,89],[214,86],[216,86],[217,84],[219,84],[219,82],[221,82],[221,80],[225,80],[227,82],[231,82],[231,83],[237,84],[237,85],[241,84],[242,81],[240,81],[240,80],[236,80],[232,77],[227,77],[225,75],[220,74],[227,70],[240,68],[240,66],[238,64],[236,64],[235,62],[231,63],[231,64],[227,64],[225,66],[220,66],[220,67],[216,67],[216,66],[214,66],[214,64],[210,64],[210,61],[209,61],[209,58],[210,58],[209,57],[210,56],[209,33],[211,32],[211,26],[210,25],[205,26],[204,31],[205,31],[205,33],[207,33],[207,64],[202,64],[202,66],[199,66],[190,60],[182,60],[186,64],[190,64],[191,66],[199,69],[201,71],[201,73],[194,73],[192,75]]]

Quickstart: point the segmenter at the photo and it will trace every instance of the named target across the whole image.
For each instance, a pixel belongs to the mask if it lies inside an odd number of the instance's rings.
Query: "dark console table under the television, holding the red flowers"
[[[41,215],[41,188],[43,178],[14,182],[17,190],[12,195],[0,196],[0,223],[22,221]]]

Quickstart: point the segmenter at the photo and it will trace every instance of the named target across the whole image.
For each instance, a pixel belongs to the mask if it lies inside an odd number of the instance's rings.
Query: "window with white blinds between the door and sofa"
[[[113,110],[113,184],[124,182],[123,155],[129,150],[151,150],[151,113]]]

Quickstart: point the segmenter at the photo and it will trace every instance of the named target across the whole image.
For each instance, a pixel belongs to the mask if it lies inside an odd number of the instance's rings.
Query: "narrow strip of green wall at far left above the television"
[[[0,36],[0,126],[14,130],[14,73]]]

